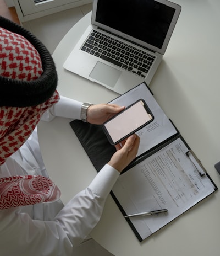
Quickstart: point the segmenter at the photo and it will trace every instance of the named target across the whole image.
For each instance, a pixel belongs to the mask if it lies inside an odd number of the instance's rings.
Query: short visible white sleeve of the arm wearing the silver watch
[[[41,117],[43,121],[51,121],[54,117],[81,119],[83,102],[60,95],[59,102],[48,109]]]

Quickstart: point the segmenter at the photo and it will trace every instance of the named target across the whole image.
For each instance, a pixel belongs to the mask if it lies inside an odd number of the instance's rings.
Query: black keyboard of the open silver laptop
[[[122,41],[92,30],[81,50],[102,58],[143,78],[149,72],[156,56]]]

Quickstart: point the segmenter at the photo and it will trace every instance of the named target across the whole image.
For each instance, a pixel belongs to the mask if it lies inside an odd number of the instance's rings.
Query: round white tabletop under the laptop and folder
[[[182,13],[150,88],[220,188],[220,176],[214,168],[220,161],[220,1],[175,2],[182,6]],[[108,102],[117,94],[62,67],[89,24],[90,15],[65,35],[53,54],[59,76],[58,90],[82,102]],[[64,203],[96,175],[69,121],[56,118],[38,126],[46,168],[61,189]],[[220,195],[217,191],[142,243],[109,196],[92,237],[116,256],[205,256],[219,255],[219,232]]]

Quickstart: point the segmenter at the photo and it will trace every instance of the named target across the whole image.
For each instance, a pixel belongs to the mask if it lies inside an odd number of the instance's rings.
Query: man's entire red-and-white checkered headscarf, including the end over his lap
[[[32,81],[40,78],[42,73],[41,58],[35,47],[23,36],[0,28],[0,75],[19,81]],[[22,83],[17,86],[22,86]],[[50,99],[36,106],[0,107],[0,165],[24,144],[42,114],[58,100],[56,91]],[[57,186],[46,177],[27,175],[1,178],[0,210],[54,201],[60,194]]]

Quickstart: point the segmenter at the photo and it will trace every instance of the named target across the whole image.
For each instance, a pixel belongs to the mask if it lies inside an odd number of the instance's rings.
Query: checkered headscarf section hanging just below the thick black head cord
[[[59,94],[46,102],[26,108],[0,108],[0,164],[17,151],[34,131],[42,114],[59,100]]]

